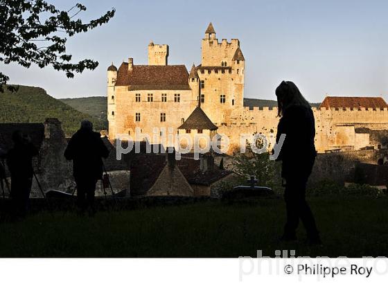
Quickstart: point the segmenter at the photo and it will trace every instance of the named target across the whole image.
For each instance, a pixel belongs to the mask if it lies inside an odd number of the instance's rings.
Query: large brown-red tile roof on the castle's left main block
[[[129,86],[130,90],[190,89],[184,65],[134,65],[132,71],[128,71],[126,62],[118,69],[116,86]]]

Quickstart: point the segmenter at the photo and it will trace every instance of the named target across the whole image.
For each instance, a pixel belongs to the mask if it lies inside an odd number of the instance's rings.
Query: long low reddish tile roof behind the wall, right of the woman
[[[385,100],[380,97],[331,97],[327,96],[319,107],[354,107],[356,109],[365,107],[371,109],[388,108]]]

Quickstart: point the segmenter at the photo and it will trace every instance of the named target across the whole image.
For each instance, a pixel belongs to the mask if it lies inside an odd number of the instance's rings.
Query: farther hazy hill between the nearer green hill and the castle
[[[78,112],[89,114],[103,123],[105,129],[108,128],[107,121],[107,97],[87,97],[87,98],[62,98],[63,103],[77,109]]]

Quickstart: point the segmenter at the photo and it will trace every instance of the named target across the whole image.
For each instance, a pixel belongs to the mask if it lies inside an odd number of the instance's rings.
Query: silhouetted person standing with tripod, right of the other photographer
[[[82,121],[81,128],[74,134],[64,157],[73,160],[73,176],[77,184],[77,203],[81,213],[87,208],[94,214],[94,192],[98,179],[103,178],[103,160],[109,151],[100,134],[93,132],[90,121]]]

